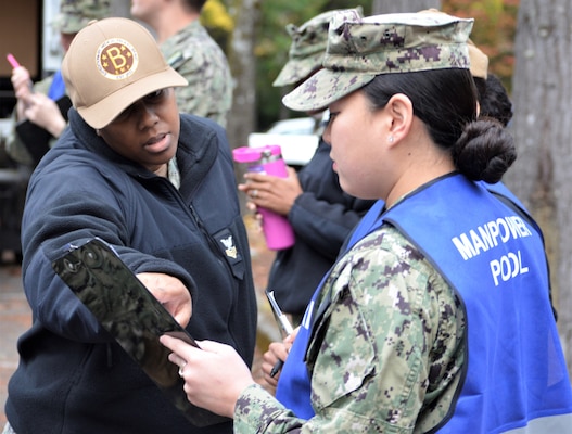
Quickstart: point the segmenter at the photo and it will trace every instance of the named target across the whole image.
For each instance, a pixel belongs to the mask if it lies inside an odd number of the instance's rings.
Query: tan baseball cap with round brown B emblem
[[[62,76],[74,107],[96,129],[149,93],[188,85],[165,62],[153,36],[120,17],[81,29],[64,56]]]

